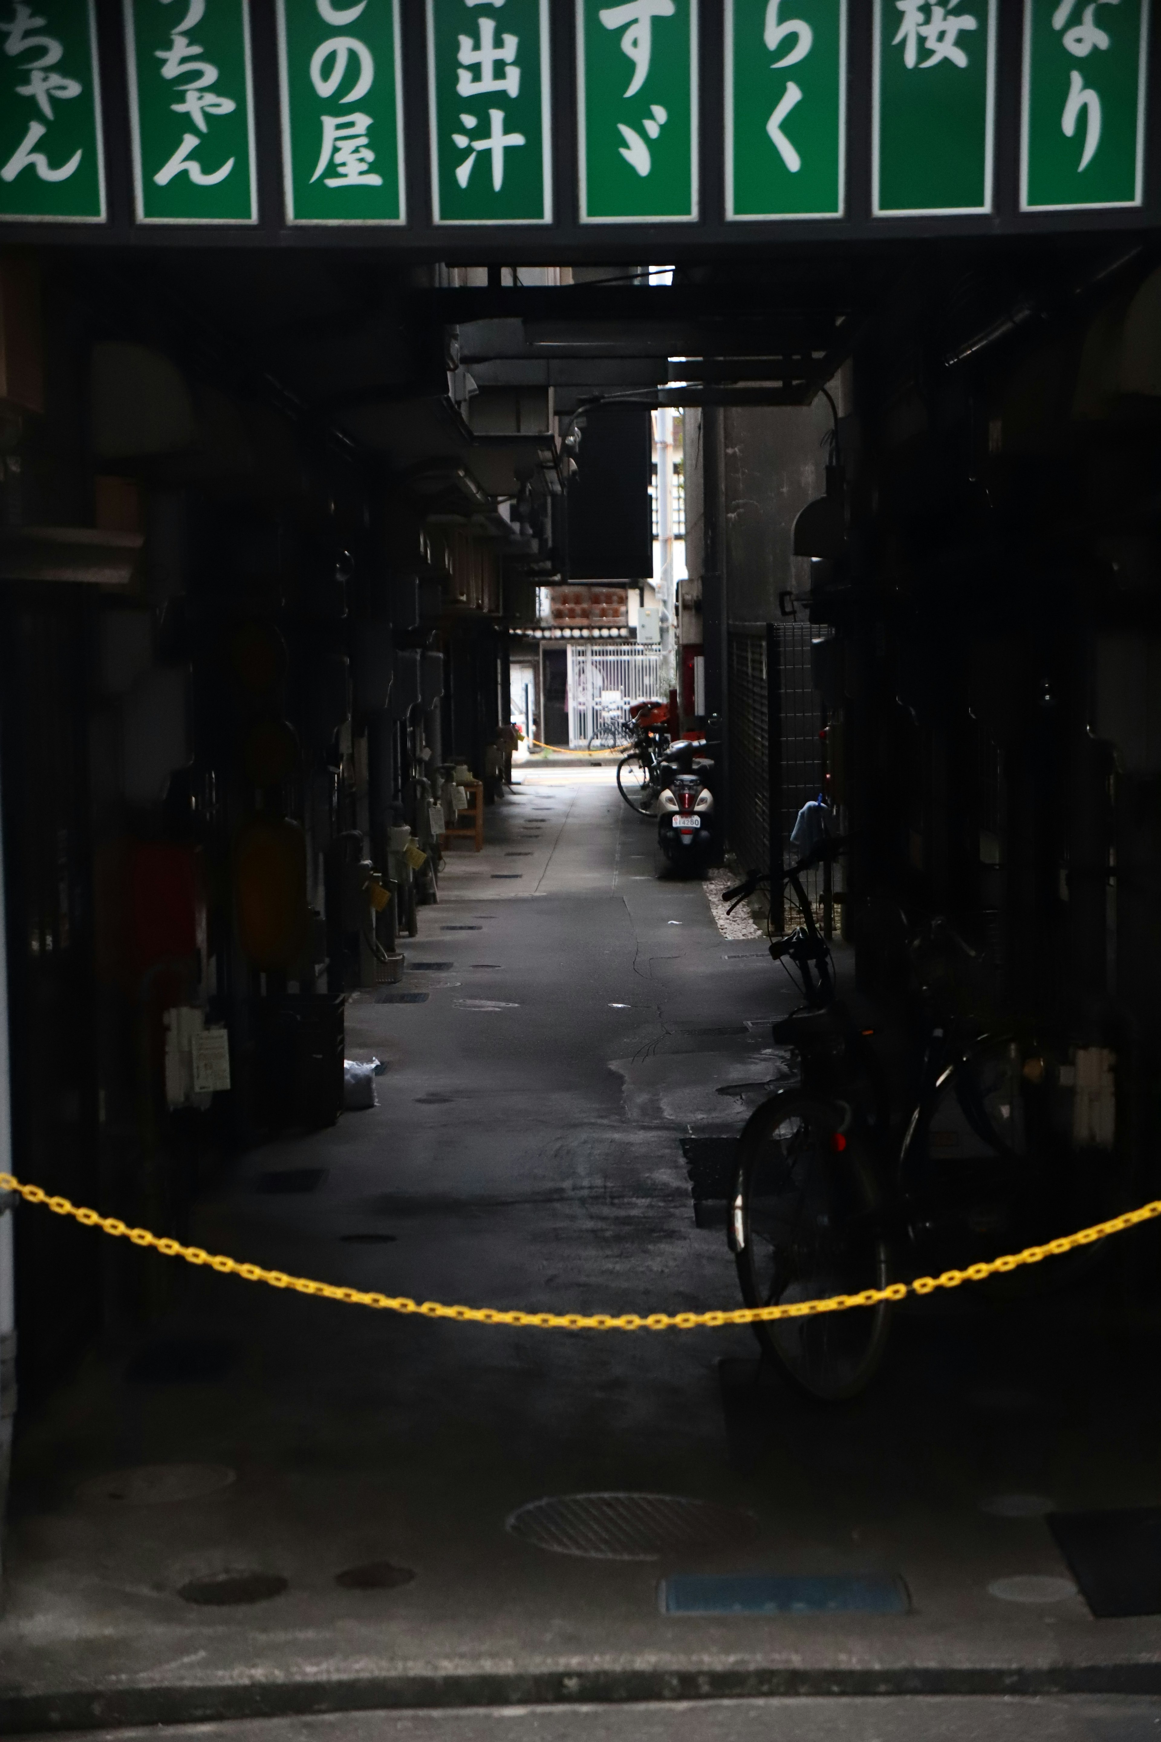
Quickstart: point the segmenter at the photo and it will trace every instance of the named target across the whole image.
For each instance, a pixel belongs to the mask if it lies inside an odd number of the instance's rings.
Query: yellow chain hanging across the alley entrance
[[[332,1282],[312,1282],[308,1277],[289,1277],[282,1270],[263,1270],[261,1265],[240,1265],[237,1258],[204,1252],[200,1246],[181,1246],[162,1239],[148,1228],[129,1228],[117,1216],[99,1216],[94,1209],[77,1209],[64,1197],[52,1197],[42,1186],[26,1186],[12,1174],[0,1174],[0,1192],[19,1192],[30,1204],[45,1204],[54,1216],[71,1216],[82,1228],[103,1228],[115,1239],[134,1246],[151,1246],[165,1258],[185,1258],[188,1265],[209,1265],[223,1277],[242,1277],[244,1282],[268,1282],[272,1289],[292,1289],[296,1294],[315,1294],[324,1301],[343,1301],[348,1306],[378,1306],[383,1312],[419,1313],[423,1319],[456,1319],[461,1324],[512,1324],[534,1331],[696,1331],[717,1329],[722,1324],[769,1324],[773,1319],[808,1319],[820,1312],[846,1312],[848,1306],[879,1306],[884,1301],[902,1301],[909,1294],[931,1294],[935,1289],[957,1289],[961,1282],[983,1282],[987,1277],[1008,1275],[1020,1265],[1039,1265],[1046,1258],[1060,1258],[1077,1246],[1093,1246],[1111,1233],[1123,1233],[1142,1221],[1161,1216],[1161,1198],[1130,1209],[1123,1216],[1098,1221],[1044,1246],[1025,1246],[1022,1252],[992,1258],[985,1265],[968,1265],[966,1270],[943,1270],[938,1277],[916,1277],[914,1282],[891,1282],[886,1289],[863,1289],[862,1294],[832,1294],[818,1301],[794,1301],[792,1306],[736,1306],[731,1312],[651,1312],[644,1317],[625,1313],[580,1312],[503,1312],[496,1306],[446,1306],[442,1301],[413,1301],[407,1294],[369,1294],[364,1289],[339,1289]]]

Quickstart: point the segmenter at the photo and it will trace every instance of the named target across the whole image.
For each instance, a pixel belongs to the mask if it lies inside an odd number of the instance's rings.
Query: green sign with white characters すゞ
[[[581,223],[698,216],[698,0],[576,0]]]

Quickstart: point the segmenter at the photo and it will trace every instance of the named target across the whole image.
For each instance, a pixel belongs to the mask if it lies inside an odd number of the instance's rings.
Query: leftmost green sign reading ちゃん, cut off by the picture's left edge
[[[94,3],[0,17],[0,218],[104,218]]]

